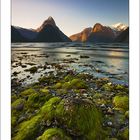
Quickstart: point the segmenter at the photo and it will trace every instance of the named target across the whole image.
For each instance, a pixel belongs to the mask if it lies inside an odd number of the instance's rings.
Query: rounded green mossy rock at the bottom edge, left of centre
[[[50,128],[46,130],[42,136],[38,137],[37,140],[72,140],[66,136],[60,128]]]

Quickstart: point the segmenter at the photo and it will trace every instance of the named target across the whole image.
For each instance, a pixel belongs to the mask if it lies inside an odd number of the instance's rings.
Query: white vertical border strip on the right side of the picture
[[[139,0],[129,0],[129,26],[130,26],[130,43],[129,43],[129,104],[130,104],[130,140],[139,140]]]

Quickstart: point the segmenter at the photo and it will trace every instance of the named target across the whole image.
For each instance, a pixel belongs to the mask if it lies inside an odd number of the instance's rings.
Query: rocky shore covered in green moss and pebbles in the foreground
[[[59,67],[26,86],[12,80],[12,140],[128,140],[128,95],[127,85]]]

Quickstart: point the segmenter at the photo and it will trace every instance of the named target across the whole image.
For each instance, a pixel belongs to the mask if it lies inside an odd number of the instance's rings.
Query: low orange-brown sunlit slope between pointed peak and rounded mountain
[[[74,34],[72,36],[70,36],[69,38],[72,41],[76,41],[76,42],[85,42],[87,40],[87,38],[89,37],[90,33],[91,33],[92,28],[86,28],[84,29],[82,32]]]

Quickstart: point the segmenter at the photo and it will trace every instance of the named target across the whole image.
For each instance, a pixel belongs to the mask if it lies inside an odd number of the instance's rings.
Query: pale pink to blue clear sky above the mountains
[[[128,25],[129,0],[12,0],[12,25],[38,28],[52,16],[67,36],[95,23]]]

